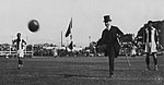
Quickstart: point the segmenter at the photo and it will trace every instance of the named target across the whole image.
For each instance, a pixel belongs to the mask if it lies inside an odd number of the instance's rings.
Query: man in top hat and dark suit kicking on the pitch
[[[104,16],[104,23],[106,28],[103,31],[102,38],[97,42],[97,46],[103,45],[105,47],[105,54],[109,58],[109,77],[114,75],[114,59],[119,54],[119,37],[124,33],[117,27],[110,25],[112,20],[109,15]]]

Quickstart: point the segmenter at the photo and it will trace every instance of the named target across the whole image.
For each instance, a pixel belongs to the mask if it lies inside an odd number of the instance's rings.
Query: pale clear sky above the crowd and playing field
[[[164,0],[0,0],[0,42],[11,42],[21,32],[28,44],[63,42],[72,17],[75,45],[97,41],[105,28],[103,16],[109,14],[112,24],[125,34],[137,34],[149,20],[164,20]],[[39,31],[27,28],[31,20],[39,22]],[[89,39],[91,36],[91,39]]]

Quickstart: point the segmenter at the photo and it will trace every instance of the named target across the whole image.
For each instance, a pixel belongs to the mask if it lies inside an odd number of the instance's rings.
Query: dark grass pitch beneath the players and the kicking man
[[[0,58],[0,85],[164,85],[164,57],[159,71],[145,71],[144,57],[115,59],[114,77],[108,78],[107,57],[25,58],[17,70],[16,58]]]

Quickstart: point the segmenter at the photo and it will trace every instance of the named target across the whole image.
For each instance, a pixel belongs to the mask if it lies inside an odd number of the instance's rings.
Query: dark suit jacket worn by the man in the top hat
[[[106,45],[106,56],[109,56],[110,48],[114,48],[116,52],[116,57],[119,54],[119,41],[118,38],[121,37],[124,33],[116,26],[112,26],[108,31],[105,28],[102,34],[102,38],[97,42],[97,45]]]

